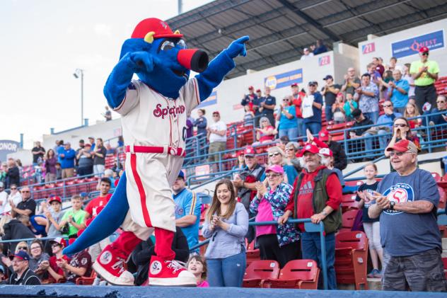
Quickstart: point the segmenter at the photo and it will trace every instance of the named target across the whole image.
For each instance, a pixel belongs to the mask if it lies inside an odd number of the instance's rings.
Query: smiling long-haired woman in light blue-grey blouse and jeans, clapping
[[[241,287],[245,273],[245,234],[248,213],[236,201],[233,183],[220,180],[202,234],[209,241],[205,258],[211,287]]]

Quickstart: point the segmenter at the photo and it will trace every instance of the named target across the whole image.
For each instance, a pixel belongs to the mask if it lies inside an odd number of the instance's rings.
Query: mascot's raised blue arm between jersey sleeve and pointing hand
[[[209,97],[216,86],[221,84],[223,77],[236,67],[233,59],[223,50],[208,64],[208,68],[201,74],[197,74],[195,78],[199,84],[200,101],[204,101]]]

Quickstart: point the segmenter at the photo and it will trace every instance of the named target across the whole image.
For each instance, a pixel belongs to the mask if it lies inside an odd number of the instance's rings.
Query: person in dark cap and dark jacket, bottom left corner
[[[8,285],[40,285],[37,275],[29,268],[30,256],[25,251],[13,255],[14,273],[9,277]]]

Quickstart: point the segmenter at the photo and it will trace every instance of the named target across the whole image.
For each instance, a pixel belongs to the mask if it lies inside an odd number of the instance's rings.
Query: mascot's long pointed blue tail
[[[105,205],[100,214],[93,219],[81,236],[64,249],[64,255],[78,253],[79,251],[98,243],[110,236],[121,226],[127,211],[129,210],[129,203],[127,202],[126,195],[126,180],[126,172],[124,171],[108,204]]]

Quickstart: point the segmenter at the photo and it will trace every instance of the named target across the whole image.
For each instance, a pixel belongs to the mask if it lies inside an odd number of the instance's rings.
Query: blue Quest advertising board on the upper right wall
[[[429,50],[436,50],[444,47],[444,30],[434,31],[414,38],[400,40],[391,43],[391,54],[393,57],[402,58],[416,55],[419,48],[428,47]]]

